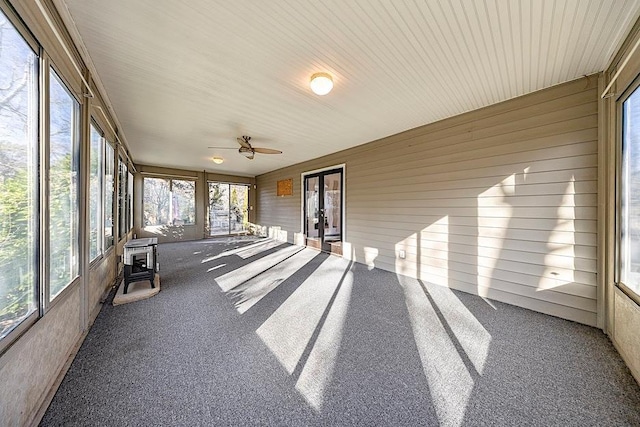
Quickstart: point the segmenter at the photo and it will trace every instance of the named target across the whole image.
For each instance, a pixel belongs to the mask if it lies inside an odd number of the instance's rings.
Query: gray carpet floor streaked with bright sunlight
[[[159,254],[162,291],[103,306],[41,425],[640,425],[598,329],[268,240]]]

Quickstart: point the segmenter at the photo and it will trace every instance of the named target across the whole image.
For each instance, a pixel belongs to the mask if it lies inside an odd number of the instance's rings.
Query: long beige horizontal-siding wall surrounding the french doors
[[[595,325],[597,80],[261,175],[257,222],[293,242],[301,173],[345,164],[345,256]]]

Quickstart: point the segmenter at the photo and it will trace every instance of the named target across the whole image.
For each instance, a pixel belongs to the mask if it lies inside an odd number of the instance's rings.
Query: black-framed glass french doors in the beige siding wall
[[[342,254],[343,170],[304,177],[304,233],[307,246]]]

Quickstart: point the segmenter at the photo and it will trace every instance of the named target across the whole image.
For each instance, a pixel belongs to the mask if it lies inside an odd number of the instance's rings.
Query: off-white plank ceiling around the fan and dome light
[[[248,176],[602,71],[640,11],[637,0],[54,3],[137,163]],[[319,71],[335,83],[324,97],[308,87]],[[243,134],[284,154],[207,148],[237,149]]]

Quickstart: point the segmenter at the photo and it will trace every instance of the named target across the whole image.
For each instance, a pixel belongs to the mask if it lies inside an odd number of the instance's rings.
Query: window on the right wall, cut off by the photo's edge
[[[620,281],[640,295],[640,90],[622,106]]]

